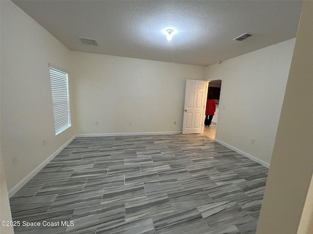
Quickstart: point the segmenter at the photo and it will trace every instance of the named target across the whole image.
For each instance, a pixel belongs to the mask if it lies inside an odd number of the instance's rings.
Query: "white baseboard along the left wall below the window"
[[[62,145],[57,151],[55,151],[51,156],[45,159],[38,167],[36,167],[31,173],[24,177],[19,183],[17,183],[12,189],[8,191],[9,198],[12,197],[16,192],[19,191],[32,177],[34,177],[41,169],[45,167],[55,156],[57,156],[67,145],[76,137],[74,135],[71,137],[64,145]]]

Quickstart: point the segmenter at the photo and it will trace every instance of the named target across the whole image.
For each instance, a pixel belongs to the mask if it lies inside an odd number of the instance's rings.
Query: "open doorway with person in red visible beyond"
[[[221,89],[222,89],[222,78],[212,78],[208,80],[208,90],[207,90],[207,98],[211,96],[212,99],[215,100],[216,110],[214,116],[212,118],[212,122],[210,126],[203,127],[203,135],[206,137],[215,140],[215,135],[217,131],[217,124],[219,118],[219,106],[220,106],[220,99],[221,99]],[[206,108],[206,107],[205,107]],[[203,121],[204,125],[204,121]]]

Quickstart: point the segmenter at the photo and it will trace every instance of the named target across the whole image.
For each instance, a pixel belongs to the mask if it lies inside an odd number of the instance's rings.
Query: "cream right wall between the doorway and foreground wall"
[[[223,77],[216,139],[270,163],[294,42],[206,67],[206,79]]]

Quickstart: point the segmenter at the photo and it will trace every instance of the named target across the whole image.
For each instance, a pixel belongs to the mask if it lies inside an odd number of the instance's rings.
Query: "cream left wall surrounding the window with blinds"
[[[55,136],[48,68],[50,62],[69,71],[71,86],[70,51],[13,2],[0,4],[1,155],[10,190],[75,130],[72,126]]]

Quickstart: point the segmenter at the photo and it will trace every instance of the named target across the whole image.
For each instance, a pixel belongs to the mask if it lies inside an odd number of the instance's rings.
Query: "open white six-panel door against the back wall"
[[[182,134],[201,133],[206,94],[205,80],[186,80]]]

